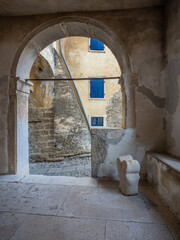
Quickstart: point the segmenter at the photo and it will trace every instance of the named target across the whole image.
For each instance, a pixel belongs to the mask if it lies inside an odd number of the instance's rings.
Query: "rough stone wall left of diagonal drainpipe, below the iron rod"
[[[91,137],[68,81],[55,82],[56,147],[65,156],[91,152]]]

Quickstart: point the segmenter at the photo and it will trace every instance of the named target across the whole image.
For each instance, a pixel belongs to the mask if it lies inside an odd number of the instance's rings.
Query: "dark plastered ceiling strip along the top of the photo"
[[[163,0],[0,0],[0,15],[23,16],[75,11],[104,11],[162,5]]]

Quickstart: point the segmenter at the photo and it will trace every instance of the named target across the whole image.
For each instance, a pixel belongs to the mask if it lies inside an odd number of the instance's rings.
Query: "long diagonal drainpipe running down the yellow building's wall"
[[[63,65],[63,67],[64,67],[64,70],[65,70],[68,78],[73,79],[73,77],[72,77],[72,75],[71,75],[71,72],[70,72],[70,70],[69,70],[69,67],[68,67],[68,65],[67,65],[67,62],[66,62],[66,60],[65,60],[65,58],[64,58],[64,55],[63,55],[62,40],[61,40],[61,39],[60,39],[60,40],[57,40],[57,43],[58,43],[58,44],[56,45],[56,46],[57,46],[57,52],[58,52],[59,57],[60,57],[60,59],[61,59],[62,65]],[[76,100],[77,100],[77,102],[78,102],[78,105],[79,105],[79,107],[80,107],[80,109],[81,109],[81,112],[82,112],[82,114],[83,114],[83,117],[84,117],[85,123],[86,123],[86,125],[87,125],[87,128],[88,128],[89,132],[91,132],[91,128],[90,128],[90,125],[89,125],[89,121],[88,121],[88,119],[87,119],[87,115],[86,115],[86,112],[85,112],[85,110],[84,110],[84,107],[83,107],[83,104],[82,104],[82,101],[81,101],[81,98],[80,98],[80,96],[79,96],[79,92],[78,92],[78,90],[77,90],[77,87],[76,87],[76,84],[75,84],[74,80],[70,81],[70,85],[71,85],[71,88],[72,88],[72,90],[73,90],[73,92],[74,92],[75,98],[76,98]]]

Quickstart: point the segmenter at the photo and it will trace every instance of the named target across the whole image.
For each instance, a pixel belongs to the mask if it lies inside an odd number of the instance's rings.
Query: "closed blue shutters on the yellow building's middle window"
[[[90,80],[90,97],[104,98],[104,79]]]

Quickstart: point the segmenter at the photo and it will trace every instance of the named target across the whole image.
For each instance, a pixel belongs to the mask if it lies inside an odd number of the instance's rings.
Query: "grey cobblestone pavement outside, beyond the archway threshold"
[[[47,176],[91,176],[91,157],[65,159],[60,162],[30,163],[30,174]]]

